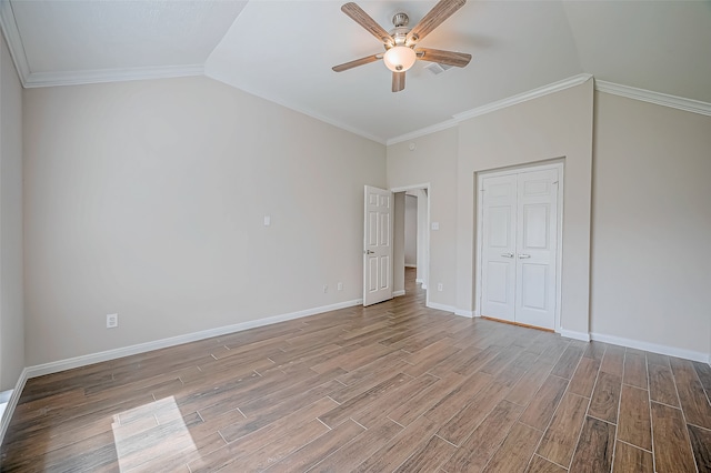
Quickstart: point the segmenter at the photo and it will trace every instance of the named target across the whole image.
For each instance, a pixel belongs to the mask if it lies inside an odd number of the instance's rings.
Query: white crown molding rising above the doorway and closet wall
[[[445,130],[448,128],[455,127],[464,120],[469,120],[474,117],[483,115],[494,112],[497,110],[505,109],[507,107],[515,105],[529,100],[538,99],[551,93],[560,92],[561,90],[570,89],[571,87],[580,85],[592,79],[592,74],[578,74],[568,79],[563,79],[558,82],[549,83],[548,85],[539,87],[538,89],[529,90],[528,92],[519,93],[495,102],[487,103],[485,105],[477,107],[475,109],[468,110],[465,112],[457,113],[452,115],[450,120],[434,124],[432,127],[415,130],[411,133],[401,134],[399,137],[391,138],[385,144],[395,144],[403,141],[412,140],[414,138],[423,137],[425,134],[433,133],[435,131]]]

